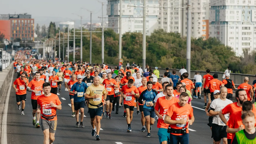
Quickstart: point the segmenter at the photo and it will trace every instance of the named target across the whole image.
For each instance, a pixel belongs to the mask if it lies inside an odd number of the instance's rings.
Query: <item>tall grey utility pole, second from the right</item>
[[[122,0],[121,0],[122,1]],[[146,68],[146,0],[143,0],[142,67]]]

